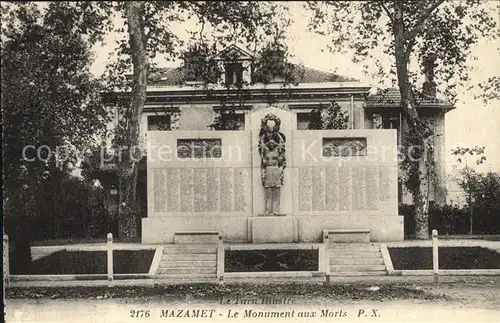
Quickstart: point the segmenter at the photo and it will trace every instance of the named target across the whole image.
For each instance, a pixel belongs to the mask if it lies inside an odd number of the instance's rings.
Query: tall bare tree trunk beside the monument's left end
[[[128,127],[125,134],[125,143],[128,147],[122,147],[127,154],[120,155],[121,158],[118,162],[119,240],[134,241],[138,237],[139,213],[136,194],[139,160],[135,153],[139,151],[140,118],[146,102],[148,58],[144,23],[141,16],[141,2],[127,1],[125,2],[125,10],[134,72],[130,106],[128,107],[129,113],[127,114],[130,120],[127,120]]]

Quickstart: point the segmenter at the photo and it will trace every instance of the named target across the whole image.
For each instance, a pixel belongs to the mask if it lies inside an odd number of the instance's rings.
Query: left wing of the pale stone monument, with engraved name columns
[[[252,215],[250,132],[151,131],[147,137],[143,242],[173,243],[175,231],[187,230],[225,231],[225,239],[246,241]],[[186,154],[189,142],[192,154]],[[220,148],[210,146],[214,142]],[[203,143],[209,148],[197,148]]]

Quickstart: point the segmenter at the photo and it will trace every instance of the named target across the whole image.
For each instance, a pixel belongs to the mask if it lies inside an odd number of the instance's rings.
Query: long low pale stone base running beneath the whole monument
[[[224,243],[320,243],[324,229],[369,229],[372,242],[402,241],[404,238],[403,217],[393,214],[276,217],[190,214],[143,218],[142,243],[174,243],[176,232],[193,230],[221,232]]]

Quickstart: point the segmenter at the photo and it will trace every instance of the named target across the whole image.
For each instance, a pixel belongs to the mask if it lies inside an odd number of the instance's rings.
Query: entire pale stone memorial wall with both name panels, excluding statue
[[[248,131],[148,133],[144,243],[173,243],[176,231],[222,231],[225,241],[252,242],[252,223],[264,207],[258,129],[268,113],[281,119],[287,138],[280,213],[294,223],[293,241],[319,242],[323,229],[403,239],[395,130],[297,131],[289,110],[261,108],[251,113]],[[209,148],[179,150],[186,143]],[[213,145],[219,150],[207,154]]]

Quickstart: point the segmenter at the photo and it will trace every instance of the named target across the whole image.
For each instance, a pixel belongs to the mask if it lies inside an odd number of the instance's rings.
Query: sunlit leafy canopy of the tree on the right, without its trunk
[[[329,49],[350,52],[355,62],[370,62],[364,65],[366,72],[375,62],[375,76],[382,84],[384,79],[396,82],[396,62],[391,57],[397,51],[394,20],[401,10],[401,54],[410,63],[412,90],[420,92],[424,61],[435,55],[435,79],[452,103],[459,86],[470,80],[468,63],[476,59],[474,46],[481,38],[499,36],[498,17],[489,1],[311,1],[306,6],[313,12],[310,28],[331,35]],[[388,64],[391,68],[385,68]]]

